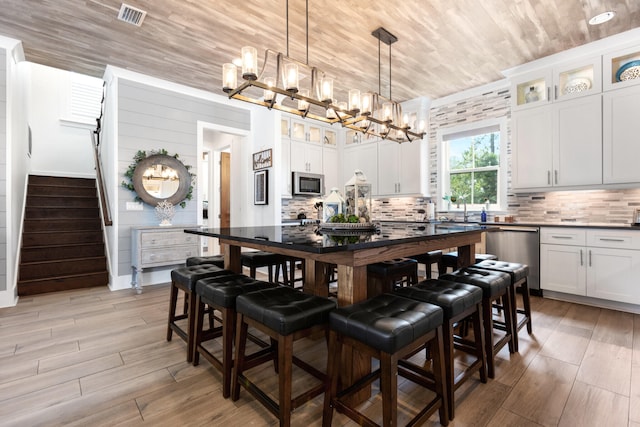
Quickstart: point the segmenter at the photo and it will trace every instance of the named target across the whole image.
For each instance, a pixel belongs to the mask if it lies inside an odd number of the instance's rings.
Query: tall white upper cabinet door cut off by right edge
[[[640,79],[639,79],[640,80]],[[605,92],[603,101],[603,182],[640,182],[640,86]]]

